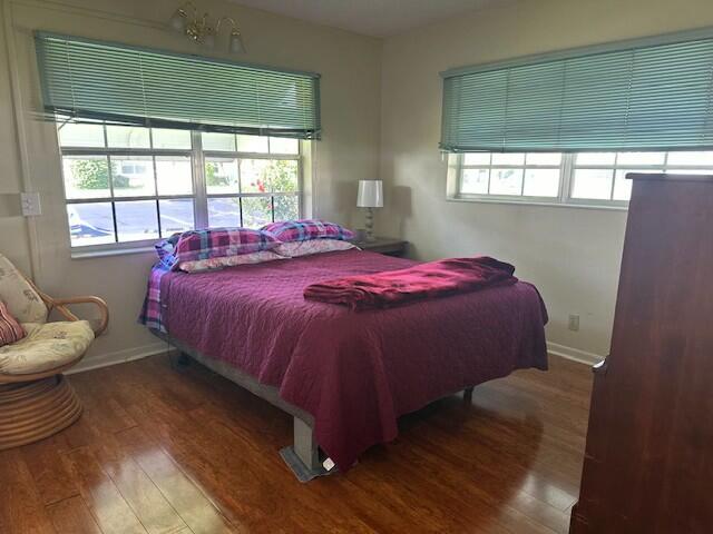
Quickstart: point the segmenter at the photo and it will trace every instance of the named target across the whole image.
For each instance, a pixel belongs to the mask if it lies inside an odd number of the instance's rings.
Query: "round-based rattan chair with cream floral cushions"
[[[27,336],[0,347],[0,451],[40,441],[67,428],[81,404],[64,370],[77,364],[108,324],[99,297],[57,299],[40,291],[0,254],[0,299]],[[67,306],[94,304],[100,318],[80,320]],[[57,310],[65,319],[47,322]]]

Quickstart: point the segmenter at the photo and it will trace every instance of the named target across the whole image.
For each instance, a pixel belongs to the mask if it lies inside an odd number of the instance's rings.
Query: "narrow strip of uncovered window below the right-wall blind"
[[[713,151],[451,154],[449,196],[626,207],[628,172],[713,174]]]

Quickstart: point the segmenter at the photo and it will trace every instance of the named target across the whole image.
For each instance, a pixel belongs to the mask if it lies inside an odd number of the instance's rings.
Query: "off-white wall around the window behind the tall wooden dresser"
[[[710,0],[525,0],[387,39],[381,176],[391,206],[379,229],[403,236],[422,259],[479,253],[512,261],[547,303],[548,339],[606,355],[626,214],[447,201],[439,71],[706,24]],[[582,316],[578,333],[567,329],[569,313]]]

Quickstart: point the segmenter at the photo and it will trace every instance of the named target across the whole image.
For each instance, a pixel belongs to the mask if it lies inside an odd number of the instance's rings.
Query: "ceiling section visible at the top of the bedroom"
[[[373,37],[403,31],[508,0],[232,0]]]

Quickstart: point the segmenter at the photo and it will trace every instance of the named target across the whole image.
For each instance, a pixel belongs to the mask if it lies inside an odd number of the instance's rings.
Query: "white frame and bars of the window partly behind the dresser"
[[[611,152],[611,150],[603,150]],[[645,170],[653,170],[657,172],[671,172],[672,170],[686,172],[686,171],[701,171],[710,170],[713,175],[713,165],[671,165],[668,162],[668,155],[671,152],[683,152],[688,150],[660,150],[665,152],[664,162],[660,165],[629,165],[619,164],[618,156],[613,164],[607,165],[577,165],[577,155],[583,152],[561,152],[561,162],[559,166],[559,195],[557,197],[534,197],[524,195],[490,195],[490,194],[472,194],[462,192],[463,171],[473,168],[553,168],[553,166],[529,166],[522,165],[466,165],[465,152],[450,152],[448,154],[448,178],[447,178],[447,200],[452,201],[466,201],[466,202],[485,202],[485,204],[511,204],[511,205],[530,205],[530,206],[551,206],[551,207],[569,207],[569,208],[588,208],[588,209],[613,209],[613,210],[627,210],[628,200],[615,200],[609,199],[594,199],[594,198],[574,198],[572,196],[575,185],[575,171],[576,169],[606,169],[612,170],[612,194],[613,197],[614,187],[616,185],[616,172],[618,170],[629,170],[631,172],[639,172]],[[492,154],[492,152],[491,152]],[[533,152],[527,152],[533,154]],[[616,152],[617,155],[619,152]],[[522,188],[525,187],[525,180],[522,180]]]

